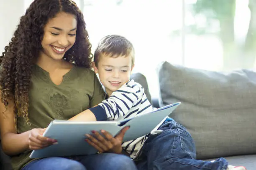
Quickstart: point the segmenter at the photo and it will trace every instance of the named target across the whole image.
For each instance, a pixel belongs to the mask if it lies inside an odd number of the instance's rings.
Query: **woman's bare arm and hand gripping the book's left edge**
[[[5,108],[0,102],[0,133],[3,151],[7,155],[17,155],[26,150],[37,150],[56,143],[56,140],[43,137],[45,129],[35,128],[17,134],[15,128],[14,103]]]

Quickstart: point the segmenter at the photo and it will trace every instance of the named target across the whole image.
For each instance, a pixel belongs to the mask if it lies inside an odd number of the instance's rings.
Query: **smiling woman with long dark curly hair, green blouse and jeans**
[[[52,120],[68,120],[104,98],[90,55],[72,0],[35,0],[20,18],[0,57],[1,141],[14,170],[136,170],[129,157],[114,153],[29,158],[31,150],[57,142],[42,136]]]

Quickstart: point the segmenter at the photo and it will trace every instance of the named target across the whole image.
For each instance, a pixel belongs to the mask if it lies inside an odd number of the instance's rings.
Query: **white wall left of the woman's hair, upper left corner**
[[[20,17],[25,13],[24,0],[0,0],[0,54],[8,45],[17,28]]]

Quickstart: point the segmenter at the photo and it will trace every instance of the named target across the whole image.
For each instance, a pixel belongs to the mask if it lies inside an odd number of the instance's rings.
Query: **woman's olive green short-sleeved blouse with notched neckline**
[[[34,65],[29,92],[28,118],[17,118],[18,133],[33,128],[46,128],[54,120],[68,120],[79,112],[93,107],[104,99],[105,93],[95,73],[74,66],[64,75],[60,85],[55,85],[49,72]],[[20,170],[32,159],[31,151],[11,157],[14,170]]]

